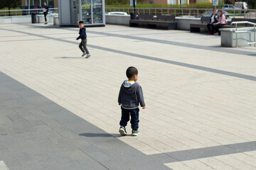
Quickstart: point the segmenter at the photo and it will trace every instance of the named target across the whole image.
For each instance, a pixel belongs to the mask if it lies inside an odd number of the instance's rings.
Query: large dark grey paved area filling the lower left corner
[[[1,72],[0,82],[0,159],[11,170],[169,169]]]

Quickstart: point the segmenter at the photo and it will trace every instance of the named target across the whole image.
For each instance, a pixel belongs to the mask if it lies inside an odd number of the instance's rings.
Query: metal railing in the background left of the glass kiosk
[[[0,10],[0,16],[30,16],[31,13],[43,14],[43,8]],[[49,8],[48,13],[58,13],[58,8]]]

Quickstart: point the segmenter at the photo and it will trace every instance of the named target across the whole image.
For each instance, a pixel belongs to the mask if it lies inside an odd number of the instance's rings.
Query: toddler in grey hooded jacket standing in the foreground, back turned
[[[118,96],[118,103],[122,109],[119,132],[123,136],[127,135],[125,126],[131,115],[132,135],[137,136],[139,135],[139,103],[142,109],[146,108],[146,104],[144,103],[142,87],[136,82],[138,70],[135,67],[129,67],[126,74],[128,80],[122,84]]]

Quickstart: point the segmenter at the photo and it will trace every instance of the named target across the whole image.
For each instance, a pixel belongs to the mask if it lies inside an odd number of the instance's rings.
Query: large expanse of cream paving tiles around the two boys
[[[87,28],[92,57],[85,60],[77,28],[17,26],[22,33],[2,26],[1,72],[115,137],[119,86],[127,67],[139,69],[147,104],[142,133],[120,140],[144,154],[256,140],[255,81],[135,56],[255,77],[254,48],[219,49],[220,38],[181,30],[107,26]]]

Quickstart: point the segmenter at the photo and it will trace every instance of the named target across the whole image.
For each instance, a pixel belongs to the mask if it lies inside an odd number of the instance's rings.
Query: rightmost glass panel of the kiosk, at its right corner
[[[103,23],[102,21],[102,0],[92,0],[93,23]]]

